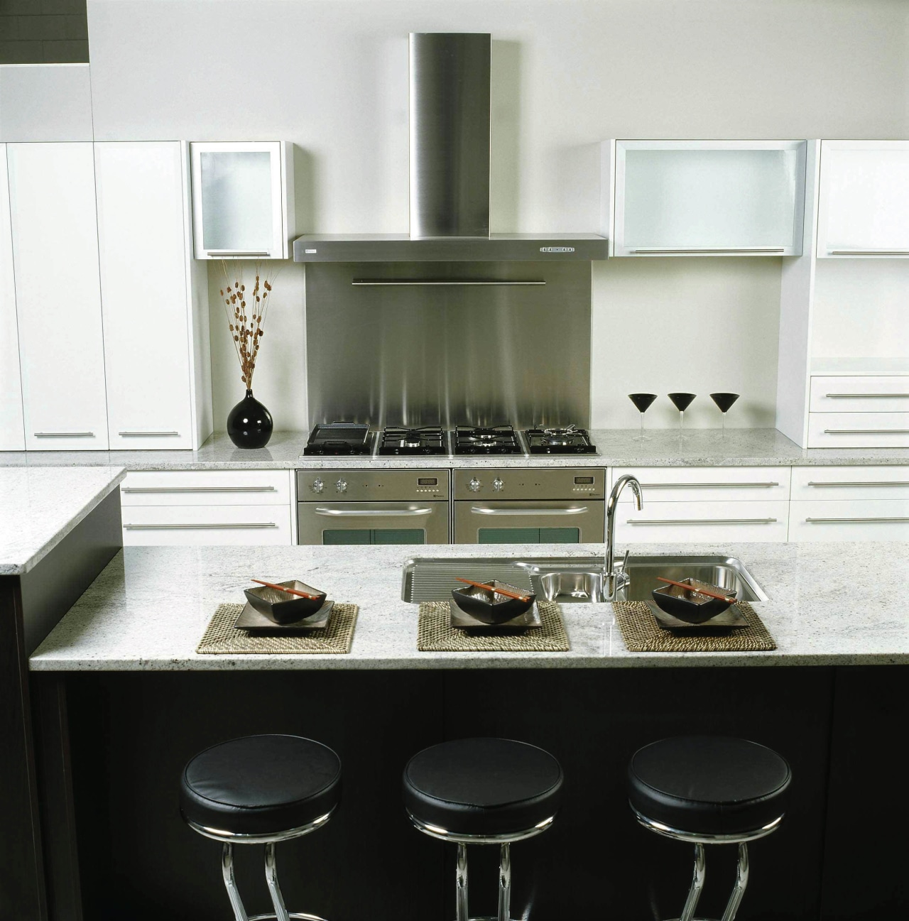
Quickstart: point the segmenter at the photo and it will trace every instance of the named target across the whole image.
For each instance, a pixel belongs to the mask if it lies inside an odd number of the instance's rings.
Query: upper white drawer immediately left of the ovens
[[[128,473],[122,506],[271,506],[290,509],[286,470],[152,471]]]

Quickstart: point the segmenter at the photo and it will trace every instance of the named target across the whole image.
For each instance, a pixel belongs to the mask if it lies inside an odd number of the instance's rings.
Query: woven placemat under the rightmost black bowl
[[[662,626],[646,601],[613,601],[612,610],[629,652],[766,652],[776,648],[774,637],[747,601],[738,608],[747,627],[705,628],[682,633]]]

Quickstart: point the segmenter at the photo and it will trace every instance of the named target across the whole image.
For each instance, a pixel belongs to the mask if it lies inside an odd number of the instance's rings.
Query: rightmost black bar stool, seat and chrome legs
[[[748,885],[748,842],[783,822],[792,773],[771,749],[726,736],[682,736],[639,749],[628,766],[628,800],[651,832],[694,845],[694,874],[679,921],[692,921],[704,888],[704,845],[739,845],[723,921]]]

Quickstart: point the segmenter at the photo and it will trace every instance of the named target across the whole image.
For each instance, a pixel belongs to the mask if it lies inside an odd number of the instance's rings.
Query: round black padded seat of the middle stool
[[[549,819],[562,801],[562,766],[535,745],[461,739],[418,752],[404,768],[404,805],[454,834],[513,834]]]

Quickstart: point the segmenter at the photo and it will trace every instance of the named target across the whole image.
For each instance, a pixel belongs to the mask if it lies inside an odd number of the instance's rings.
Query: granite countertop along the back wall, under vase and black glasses
[[[141,470],[307,470],[458,467],[768,467],[831,464],[909,464],[909,448],[799,448],[775,428],[692,429],[680,440],[675,429],[651,429],[635,441],[636,428],[598,428],[590,437],[597,454],[527,457],[301,457],[307,433],[275,432],[268,447],[236,448],[224,433],[197,451],[5,451],[0,468],[93,466]]]

